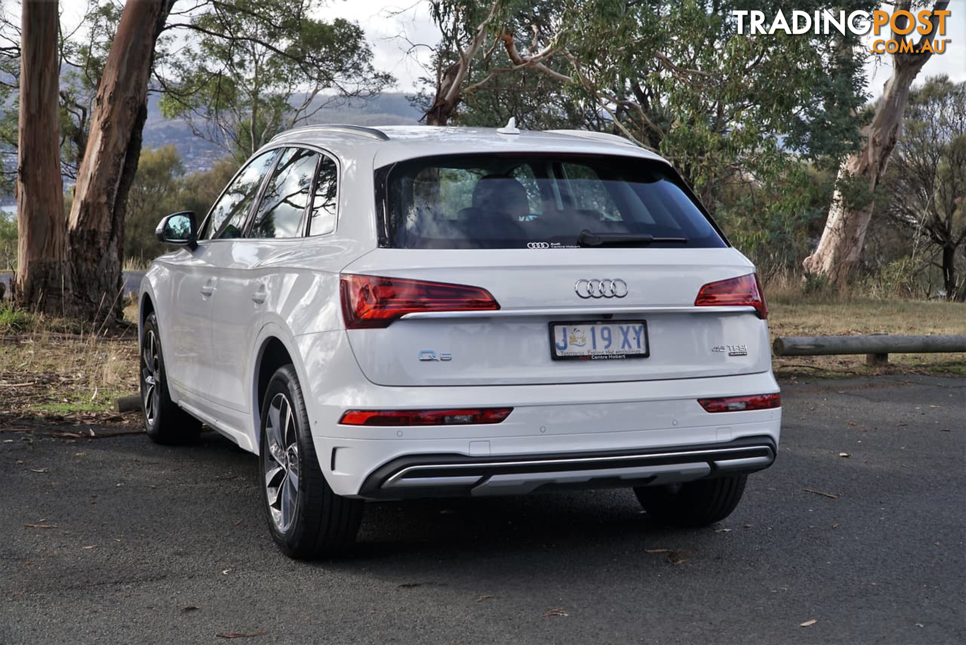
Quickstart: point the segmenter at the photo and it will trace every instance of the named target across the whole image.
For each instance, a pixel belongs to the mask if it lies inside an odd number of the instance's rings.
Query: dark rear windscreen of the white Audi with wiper
[[[460,154],[377,171],[390,248],[722,247],[668,164],[639,157]]]

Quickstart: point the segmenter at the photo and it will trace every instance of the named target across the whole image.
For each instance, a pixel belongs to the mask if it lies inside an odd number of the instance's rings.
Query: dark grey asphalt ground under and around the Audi
[[[786,384],[784,419],[711,528],[630,491],[382,503],[314,564],[216,435],[0,434],[0,642],[966,642],[966,379]]]

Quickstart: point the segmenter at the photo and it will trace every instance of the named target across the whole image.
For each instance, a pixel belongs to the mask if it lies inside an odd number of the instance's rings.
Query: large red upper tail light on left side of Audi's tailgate
[[[497,300],[485,289],[441,282],[345,273],[340,290],[348,329],[387,327],[406,314],[418,312],[499,309]]]

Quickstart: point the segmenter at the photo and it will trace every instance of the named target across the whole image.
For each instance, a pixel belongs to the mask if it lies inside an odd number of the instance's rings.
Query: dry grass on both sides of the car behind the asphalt
[[[767,293],[767,292],[766,292]],[[824,301],[822,301],[824,300]],[[769,324],[777,336],[838,334],[966,334],[966,304],[904,300],[847,300],[844,296],[770,298]],[[125,315],[136,319],[136,302]],[[73,332],[70,335],[58,332]],[[134,329],[123,336],[85,332],[70,322],[44,321],[0,307],[0,428],[17,420],[138,424],[113,411],[114,399],[138,391]],[[776,358],[780,377],[890,373],[966,376],[964,354],[892,354],[871,368],[865,356]]]

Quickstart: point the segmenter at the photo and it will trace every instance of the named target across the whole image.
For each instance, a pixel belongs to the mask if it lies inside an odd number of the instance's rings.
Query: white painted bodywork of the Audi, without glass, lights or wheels
[[[269,147],[324,151],[339,165],[334,233],[201,240],[156,259],[141,286],[181,407],[241,448],[259,446],[258,369],[274,339],[292,358],[320,465],[333,491],[360,494],[385,463],[418,455],[514,457],[628,452],[769,437],[781,407],[708,413],[700,398],[776,393],[768,330],[751,307],[700,308],[704,284],[753,272],[736,249],[381,248],[374,171],[464,153],[581,153],[662,160],[590,133],[497,134],[392,126],[388,141],[302,128]],[[663,160],[662,160],[663,161]],[[386,328],[346,329],[341,273],[481,287],[495,312],[411,314]],[[581,279],[621,279],[620,301],[582,299]],[[646,320],[645,359],[554,361],[548,323],[595,315]],[[481,339],[486,340],[484,344]],[[747,346],[747,355],[714,351]],[[420,361],[420,351],[451,354]],[[488,425],[340,425],[350,409],[513,407]]]

